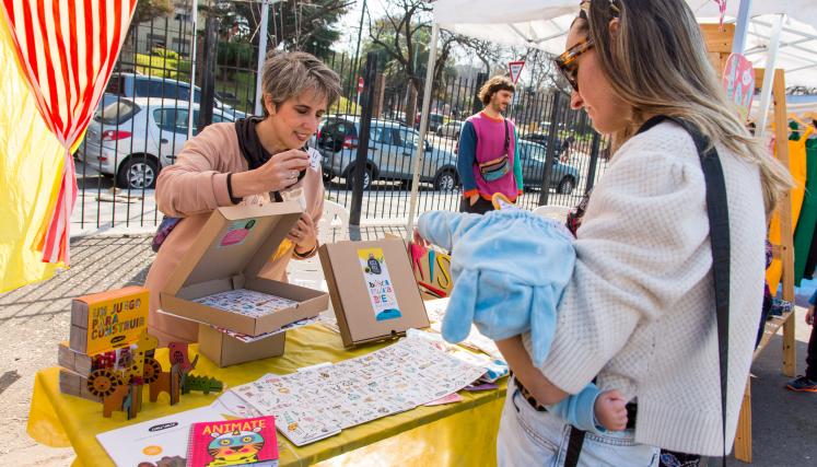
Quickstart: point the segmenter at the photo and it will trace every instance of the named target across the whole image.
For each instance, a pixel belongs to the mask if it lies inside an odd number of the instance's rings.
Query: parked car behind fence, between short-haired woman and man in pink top
[[[331,116],[324,120],[315,144],[323,157],[324,176],[341,177],[347,187],[353,186],[350,175],[358,155],[360,117]],[[369,131],[369,159],[363,177],[363,188],[369,189],[375,179],[409,182],[413,178],[415,153],[419,133],[397,121],[372,120]],[[435,189],[453,190],[459,184],[456,156],[423,142],[425,156],[420,171],[420,182],[431,183]]]

